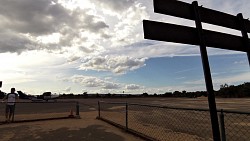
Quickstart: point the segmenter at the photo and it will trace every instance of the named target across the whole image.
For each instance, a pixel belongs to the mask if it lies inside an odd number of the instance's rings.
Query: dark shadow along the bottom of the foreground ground
[[[50,131],[39,131],[35,129],[34,133],[27,133],[30,126],[22,125],[0,129],[0,138],[11,141],[125,141],[119,135],[106,132],[101,125],[90,125],[86,128],[72,130],[66,127]]]

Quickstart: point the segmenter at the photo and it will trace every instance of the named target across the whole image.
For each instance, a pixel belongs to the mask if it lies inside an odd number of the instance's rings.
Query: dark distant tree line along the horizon
[[[218,91],[214,91],[216,97],[222,98],[244,98],[250,97],[250,82],[245,82],[238,86],[222,84],[220,85],[220,89]],[[28,95],[19,91],[18,92],[20,98],[27,98]],[[3,98],[6,95],[5,92],[0,90],[0,98]],[[205,96],[207,97],[206,91],[196,91],[196,92],[187,92],[187,91],[174,91],[174,92],[166,92],[164,94],[148,94],[146,92],[142,94],[88,94],[84,92],[83,94],[60,94],[59,98],[67,99],[67,98],[123,98],[123,97],[188,97],[188,98],[197,98]],[[39,96],[37,96],[39,97]]]

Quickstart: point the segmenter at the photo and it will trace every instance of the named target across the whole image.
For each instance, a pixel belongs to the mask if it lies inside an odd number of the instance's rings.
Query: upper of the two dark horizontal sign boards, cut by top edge
[[[154,0],[154,12],[194,20],[192,4],[177,0]],[[240,30],[236,15],[199,6],[200,18],[204,23]],[[250,21],[244,19],[247,32],[250,32]]]

